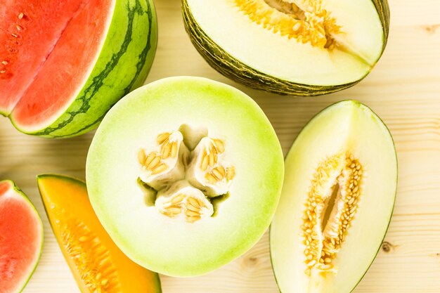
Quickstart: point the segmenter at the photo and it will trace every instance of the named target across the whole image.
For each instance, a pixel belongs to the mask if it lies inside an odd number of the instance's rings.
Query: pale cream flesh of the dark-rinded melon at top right
[[[252,22],[235,1],[183,2],[184,9],[188,6],[185,13],[195,21],[187,25],[197,27],[190,29],[190,34],[200,30],[238,63],[273,79],[297,84],[337,86],[357,82],[373,68],[386,42],[382,15],[370,0],[321,1],[344,32],[338,37],[344,48],[332,51],[274,33],[264,28],[263,22]],[[211,54],[217,53],[221,54]]]

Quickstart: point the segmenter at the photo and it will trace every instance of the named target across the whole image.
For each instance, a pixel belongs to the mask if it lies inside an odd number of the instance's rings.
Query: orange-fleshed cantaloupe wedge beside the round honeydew
[[[37,182],[81,292],[162,292],[157,273],[138,266],[112,242],[93,212],[84,182],[60,175],[40,175]]]

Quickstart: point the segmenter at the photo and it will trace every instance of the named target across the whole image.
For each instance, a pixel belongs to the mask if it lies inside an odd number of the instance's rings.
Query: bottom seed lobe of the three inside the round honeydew
[[[157,193],[155,207],[169,218],[184,219],[188,223],[214,214],[214,208],[205,194],[191,186],[188,181],[178,181],[169,189]]]

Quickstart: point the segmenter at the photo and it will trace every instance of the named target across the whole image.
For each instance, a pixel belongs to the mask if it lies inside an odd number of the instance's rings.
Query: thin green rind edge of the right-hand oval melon
[[[389,13],[389,11],[388,11],[388,13]],[[389,14],[388,14],[388,15],[389,15]],[[385,45],[384,45],[384,46],[385,46]],[[321,115],[322,112],[324,112],[325,110],[328,110],[328,108],[330,108],[330,107],[332,107],[332,106],[334,106],[334,105],[337,105],[337,104],[339,104],[339,103],[353,103],[354,105],[356,105],[356,106],[358,106],[358,107],[364,107],[364,108],[368,109],[368,110],[369,110],[369,111],[370,111],[370,112],[371,112],[371,113],[372,113],[372,114],[373,114],[373,115],[374,115],[374,116],[375,116],[380,122],[382,122],[382,124],[384,125],[385,129],[387,129],[387,131],[388,131],[388,133],[389,133],[389,137],[391,138],[392,143],[393,143],[393,145],[394,145],[394,152],[396,152],[396,143],[394,143],[394,138],[393,138],[393,136],[392,136],[392,134],[391,134],[391,131],[389,131],[389,128],[387,127],[387,124],[385,124],[385,123],[383,122],[383,120],[379,117],[379,115],[377,115],[377,114],[376,114],[376,113],[375,113],[370,107],[368,107],[367,105],[364,105],[364,104],[358,102],[357,100],[342,100],[342,101],[340,101],[340,102],[338,102],[338,103],[332,104],[332,105],[328,106],[327,108],[321,110],[321,111],[318,112],[316,115],[314,115],[314,116],[310,119],[310,121],[307,122],[306,125],[304,125],[304,127],[301,129],[301,131],[299,131],[299,134],[301,134],[301,132],[306,128],[307,125],[309,125],[309,123],[311,123],[311,122],[313,121],[313,119],[315,119],[316,117],[318,117],[319,115]],[[296,141],[296,138],[295,138],[295,141]],[[295,144],[295,141],[294,141],[294,144]],[[292,147],[290,148],[290,150],[292,150],[292,148],[293,148],[293,145],[292,145]],[[290,152],[290,151],[289,151],[289,152]],[[396,153],[397,153],[397,152],[396,152]],[[286,157],[287,157],[288,155],[289,155],[289,154],[287,153]],[[398,183],[398,181],[399,181],[399,164],[398,164],[397,156],[396,156],[396,171],[397,171],[397,172],[396,172],[396,186],[397,186],[397,183]],[[396,195],[397,195],[397,188],[396,188],[396,191],[395,191],[395,193],[394,193],[394,203],[393,203],[393,206],[392,206],[391,214],[389,215],[388,226],[387,226],[387,229],[385,229],[385,233],[384,233],[384,237],[382,238],[382,242],[384,242],[385,237],[387,236],[387,232],[388,232],[388,229],[389,229],[389,225],[391,224],[392,216],[393,216],[393,213],[394,213],[394,207],[395,207],[395,205],[396,205]],[[270,254],[270,256],[271,256],[271,267],[272,267],[272,271],[273,271],[273,277],[275,278],[275,282],[276,282],[276,285],[277,285],[277,287],[278,287],[278,290],[280,290],[280,293],[283,293],[283,292],[281,291],[280,285],[279,285],[278,280],[277,280],[277,278],[276,278],[275,270],[274,270],[274,268],[273,268],[272,246],[271,246],[271,230],[272,230],[272,225],[269,227],[269,254]],[[380,246],[380,247],[381,247],[381,246]],[[371,263],[370,263],[370,266],[368,266],[368,268],[365,268],[365,272],[363,273],[363,275],[361,275],[361,278],[359,278],[358,282],[357,282],[356,285],[353,287],[353,289],[351,289],[350,292],[353,292],[354,289],[356,289],[356,287],[359,285],[359,283],[361,282],[361,280],[363,279],[363,277],[365,277],[365,274],[368,272],[368,270],[370,269],[370,267],[371,267],[371,265],[373,264],[374,260],[376,259],[377,254],[379,254],[379,252],[380,252],[380,247],[377,247],[377,252],[376,252],[375,255],[373,256],[373,259],[372,259],[372,261],[371,261]]]

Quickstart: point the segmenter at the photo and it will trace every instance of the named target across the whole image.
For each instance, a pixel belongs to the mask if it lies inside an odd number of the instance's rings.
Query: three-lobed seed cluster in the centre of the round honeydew
[[[156,150],[141,149],[138,162],[141,181],[158,191],[157,211],[188,223],[212,216],[209,197],[228,193],[235,176],[224,141],[205,136],[189,150],[180,131],[159,134]]]

